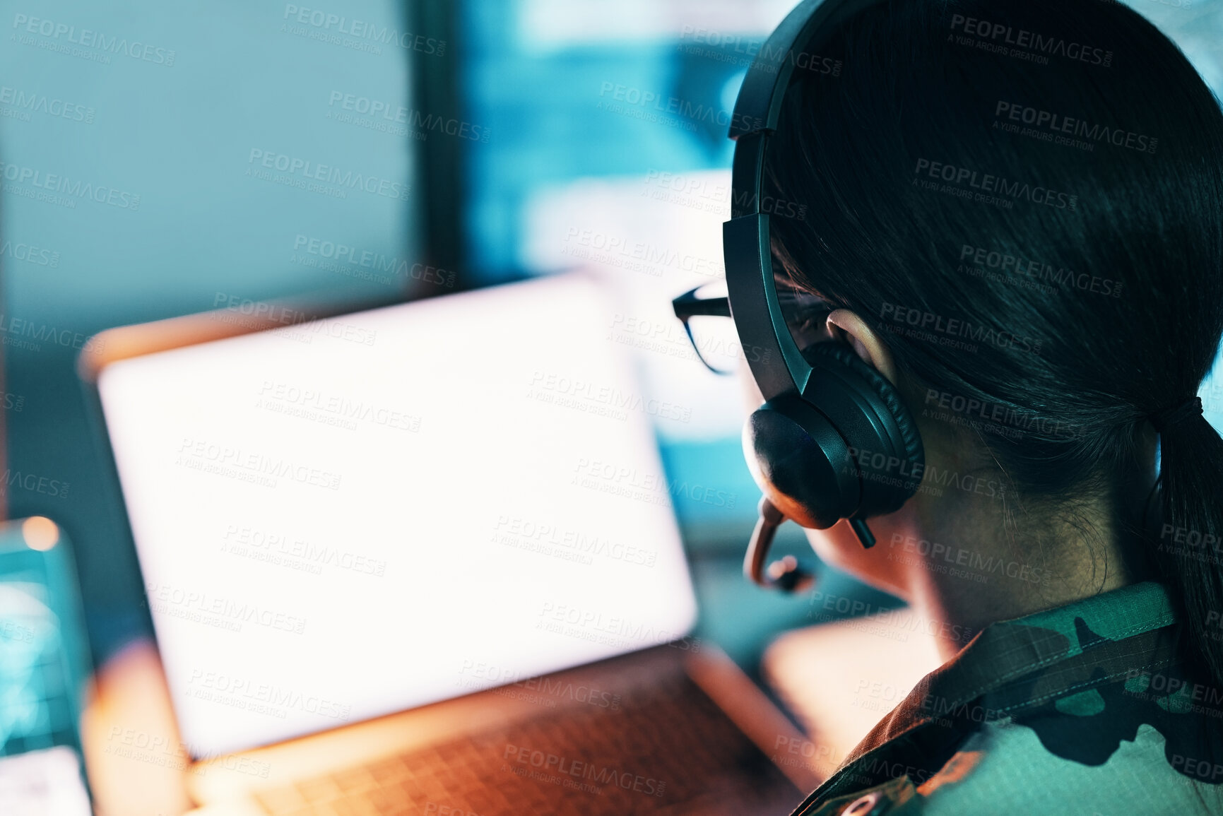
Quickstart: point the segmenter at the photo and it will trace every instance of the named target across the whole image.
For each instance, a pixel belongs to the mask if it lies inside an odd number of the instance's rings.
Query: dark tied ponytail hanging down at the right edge
[[[1223,685],[1223,437],[1201,410],[1195,398],[1151,417],[1159,431],[1163,486],[1155,552],[1185,617],[1191,657]]]

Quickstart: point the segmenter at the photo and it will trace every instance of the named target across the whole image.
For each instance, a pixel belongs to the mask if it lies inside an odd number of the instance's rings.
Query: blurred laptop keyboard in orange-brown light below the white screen
[[[607,702],[603,700],[600,702]],[[273,816],[784,815],[802,794],[686,675],[258,794]]]

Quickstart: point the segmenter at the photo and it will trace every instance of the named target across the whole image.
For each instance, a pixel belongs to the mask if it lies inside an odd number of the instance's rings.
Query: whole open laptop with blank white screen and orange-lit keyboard
[[[816,787],[692,635],[608,300],[582,274],[317,319],[219,294],[94,338],[193,812],[786,814]]]

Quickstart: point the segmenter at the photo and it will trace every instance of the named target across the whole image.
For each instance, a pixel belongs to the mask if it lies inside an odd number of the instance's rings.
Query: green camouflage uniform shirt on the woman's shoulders
[[[1179,636],[1155,582],[987,626],[795,816],[1223,814],[1223,689]]]

